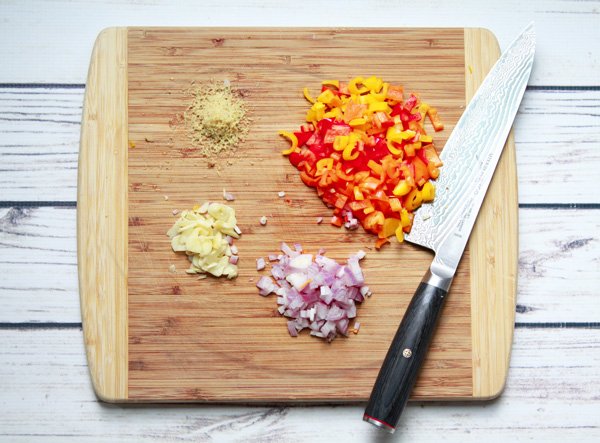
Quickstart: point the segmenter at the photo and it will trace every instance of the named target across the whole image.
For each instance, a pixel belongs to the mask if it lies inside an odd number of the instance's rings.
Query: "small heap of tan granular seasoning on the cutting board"
[[[184,113],[184,121],[192,143],[206,157],[230,151],[248,133],[244,101],[230,84],[210,82],[190,91],[192,104]]]

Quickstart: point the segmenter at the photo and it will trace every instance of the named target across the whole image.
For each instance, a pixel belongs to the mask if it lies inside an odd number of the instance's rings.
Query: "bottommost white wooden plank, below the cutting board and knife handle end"
[[[558,329],[550,338],[543,328],[517,329],[499,399],[409,404],[394,438],[362,422],[362,405],[101,404],[87,382],[82,341],[78,329],[0,330],[0,361],[11,362],[0,365],[0,429],[7,441],[479,443],[600,436],[598,329]]]

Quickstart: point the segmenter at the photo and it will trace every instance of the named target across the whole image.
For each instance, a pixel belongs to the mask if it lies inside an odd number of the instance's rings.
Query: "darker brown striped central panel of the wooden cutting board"
[[[408,91],[427,91],[426,100],[444,115],[447,130],[438,138],[443,146],[465,101],[464,35],[462,30],[437,30],[436,39],[431,35],[427,29],[130,29],[129,139],[136,145],[129,156],[130,399],[352,401],[368,396],[431,254],[393,245],[369,257],[365,273],[379,296],[361,307],[358,336],[332,344],[307,335],[291,340],[285,319],[274,313],[274,300],[254,295],[254,258],[275,252],[281,239],[302,242],[309,251],[331,245],[330,255],[341,259],[372,239],[330,226],[315,229],[314,220],[327,211],[285,159],[274,155],[281,143],[273,134],[301,121],[305,104],[297,91],[303,86],[358,75],[357,66],[371,63],[378,66],[377,75]],[[391,50],[398,52],[398,61],[390,60]],[[228,78],[244,91],[253,131],[231,164],[211,169],[173,121],[185,110],[190,83],[214,77]],[[274,107],[277,102],[288,112]],[[240,241],[240,276],[233,282],[197,282],[169,274],[171,263],[186,267],[185,259],[178,262],[168,253],[164,232],[173,221],[170,208],[218,200],[223,188],[238,196],[234,207],[248,242]],[[276,196],[282,189],[288,205]],[[271,218],[265,228],[257,223],[261,215]],[[393,262],[402,272],[391,272],[388,263]],[[467,252],[415,398],[472,397],[469,297]]]

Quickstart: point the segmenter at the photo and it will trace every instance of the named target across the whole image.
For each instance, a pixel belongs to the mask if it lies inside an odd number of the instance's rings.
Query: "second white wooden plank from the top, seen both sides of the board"
[[[77,200],[83,92],[83,85],[0,87],[0,200]],[[600,203],[600,193],[589,192],[598,170],[599,108],[598,90],[525,92],[514,125],[519,203]]]

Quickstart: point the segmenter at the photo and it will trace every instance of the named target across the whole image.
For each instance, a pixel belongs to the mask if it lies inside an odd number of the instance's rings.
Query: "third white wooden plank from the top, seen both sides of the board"
[[[81,321],[75,231],[74,207],[0,208],[0,323]],[[517,325],[598,321],[599,244],[598,210],[520,209]]]

